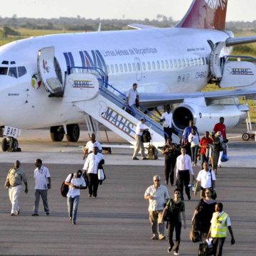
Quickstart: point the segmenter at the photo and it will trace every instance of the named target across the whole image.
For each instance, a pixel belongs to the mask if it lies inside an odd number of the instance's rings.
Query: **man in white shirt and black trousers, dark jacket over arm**
[[[93,146],[92,154],[87,156],[83,170],[87,171],[88,176],[88,189],[89,197],[94,196],[97,198],[97,188],[99,186],[99,179],[97,176],[98,169],[102,169],[102,165],[105,164],[102,154],[98,152],[97,146]]]

